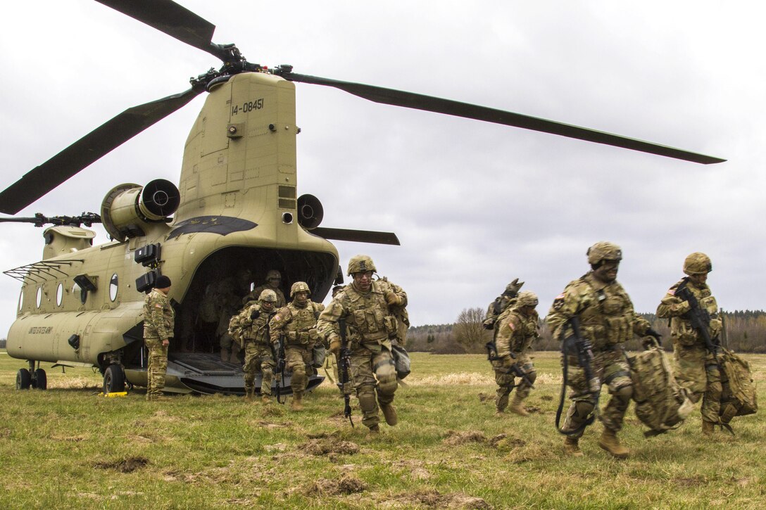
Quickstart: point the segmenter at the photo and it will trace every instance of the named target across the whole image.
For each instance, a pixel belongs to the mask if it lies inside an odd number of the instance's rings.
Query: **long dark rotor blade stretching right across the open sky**
[[[595,131],[571,124],[557,123],[554,120],[540,119],[522,115],[521,113],[506,112],[504,110],[495,110],[486,106],[478,106],[470,103],[460,103],[459,101],[446,100],[440,97],[424,96],[403,90],[387,89],[385,87],[374,87],[363,83],[352,83],[347,81],[330,80],[306,74],[283,73],[281,76],[285,80],[297,81],[301,83],[313,83],[315,85],[326,85],[345,90],[355,96],[363,97],[366,100],[375,101],[375,103],[390,104],[393,106],[404,106],[414,110],[426,110],[428,112],[446,113],[466,119],[483,120],[488,123],[504,124],[506,126],[515,126],[533,131],[548,132],[553,135],[567,136],[585,140],[587,142],[603,143],[604,145],[614,145],[623,149],[632,149],[634,151],[648,152],[650,154],[662,155],[668,158],[683,159],[690,162],[710,163],[725,162],[725,159],[715,158],[714,156],[697,154],[683,149],[659,145],[652,142],[644,142],[627,138],[625,136],[614,135],[608,132]]]

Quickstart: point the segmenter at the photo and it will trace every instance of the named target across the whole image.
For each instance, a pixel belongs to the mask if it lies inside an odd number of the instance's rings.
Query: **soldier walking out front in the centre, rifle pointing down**
[[[345,322],[362,423],[371,433],[378,433],[378,404],[386,423],[398,422],[392,404],[397,381],[391,342],[401,335],[394,310],[407,306],[407,294],[388,280],[372,280],[375,264],[366,255],[352,257],[348,273],[353,282],[332,299],[319,316],[317,327],[336,354],[342,344],[339,321]]]

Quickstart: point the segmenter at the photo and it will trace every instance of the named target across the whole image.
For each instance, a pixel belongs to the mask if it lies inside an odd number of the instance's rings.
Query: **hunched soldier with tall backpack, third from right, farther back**
[[[509,410],[521,416],[528,416],[522,402],[529,397],[532,384],[535,384],[537,372],[529,357],[532,342],[538,338],[538,322],[540,316],[535,311],[538,300],[535,293],[523,292],[516,299],[516,304],[497,318],[497,335],[495,345],[497,356],[492,360],[497,383],[495,406],[498,415],[502,415],[508,407],[508,396],[514,387],[518,388],[513,396]],[[516,374],[511,368],[516,365],[526,374],[526,379],[520,378],[515,385]]]

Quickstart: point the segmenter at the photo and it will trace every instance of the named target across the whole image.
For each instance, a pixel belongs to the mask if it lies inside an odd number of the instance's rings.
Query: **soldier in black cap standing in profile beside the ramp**
[[[146,370],[146,400],[158,400],[165,387],[168,348],[173,338],[175,310],[170,306],[170,279],[159,276],[155,288],[144,299],[144,344],[149,351]]]

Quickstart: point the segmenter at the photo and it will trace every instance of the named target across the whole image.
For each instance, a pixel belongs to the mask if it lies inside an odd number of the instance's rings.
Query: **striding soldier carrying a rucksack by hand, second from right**
[[[657,335],[650,324],[633,311],[633,302],[620,283],[617,269],[622,260],[622,250],[615,244],[600,242],[588,249],[591,271],[566,286],[553,302],[548,317],[548,327],[554,338],[564,340],[571,335],[567,322],[578,315],[581,334],[593,346],[593,371],[601,384],[607,384],[611,399],[601,412],[604,433],[598,445],[613,456],[624,459],[630,451],[617,440],[625,412],[633,396],[630,367],[625,361],[620,345],[637,335]],[[564,430],[578,432],[566,436],[565,452],[581,456],[578,441],[584,431],[584,423],[594,412],[594,401],[588,389],[584,370],[578,365],[575,354],[568,354],[568,385],[572,400],[565,420]],[[562,364],[564,360],[562,359]]]

